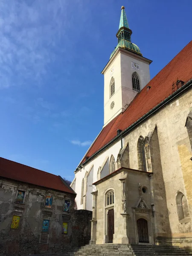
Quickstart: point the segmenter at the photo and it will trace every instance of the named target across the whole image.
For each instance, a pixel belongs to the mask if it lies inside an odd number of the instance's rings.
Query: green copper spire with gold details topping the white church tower
[[[125,7],[121,7],[121,17],[120,17],[120,23],[119,23],[119,30],[116,34],[116,37],[118,38],[118,44],[115,47],[114,51],[111,53],[110,59],[115,54],[117,49],[123,48],[129,52],[133,52],[137,55],[142,56],[140,52],[140,48],[131,42],[131,35],[132,31],[129,28],[127,17],[125,14]]]

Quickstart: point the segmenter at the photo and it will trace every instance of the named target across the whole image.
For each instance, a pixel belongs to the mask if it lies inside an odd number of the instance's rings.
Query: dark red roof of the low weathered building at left
[[[75,194],[72,189],[64,185],[59,176],[2,157],[0,157],[0,176]]]

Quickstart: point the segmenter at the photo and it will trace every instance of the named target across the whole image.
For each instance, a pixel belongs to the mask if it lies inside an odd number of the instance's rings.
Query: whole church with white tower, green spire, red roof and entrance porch
[[[104,125],[75,170],[90,244],[192,248],[192,41],[153,79],[121,8],[104,75]]]

